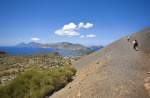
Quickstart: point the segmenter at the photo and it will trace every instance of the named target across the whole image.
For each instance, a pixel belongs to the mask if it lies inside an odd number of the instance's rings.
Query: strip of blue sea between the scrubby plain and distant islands
[[[71,51],[64,49],[54,48],[34,48],[34,47],[0,47],[0,51],[4,51],[9,55],[36,55],[36,54],[49,54],[58,52],[62,56],[81,56],[89,51]]]

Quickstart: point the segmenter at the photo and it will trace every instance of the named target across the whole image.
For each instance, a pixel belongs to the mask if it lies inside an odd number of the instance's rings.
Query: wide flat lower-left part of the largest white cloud
[[[54,33],[59,36],[70,36],[70,37],[80,35],[80,33],[74,30],[62,30],[62,29],[56,30]]]

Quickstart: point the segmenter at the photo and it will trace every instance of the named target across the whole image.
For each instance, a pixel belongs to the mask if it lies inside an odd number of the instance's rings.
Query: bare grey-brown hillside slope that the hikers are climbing
[[[75,63],[73,82],[50,98],[149,98],[144,79],[150,71],[150,29],[135,33],[140,51],[126,37]]]

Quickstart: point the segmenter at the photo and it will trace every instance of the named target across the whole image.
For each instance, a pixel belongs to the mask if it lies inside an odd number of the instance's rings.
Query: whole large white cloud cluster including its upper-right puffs
[[[80,29],[88,29],[93,27],[93,24],[91,23],[83,23],[80,22],[78,25],[75,23],[71,22],[69,24],[64,25],[61,29],[56,30],[54,33],[59,36],[79,36],[79,30]],[[80,36],[81,38],[84,38],[82,35]]]

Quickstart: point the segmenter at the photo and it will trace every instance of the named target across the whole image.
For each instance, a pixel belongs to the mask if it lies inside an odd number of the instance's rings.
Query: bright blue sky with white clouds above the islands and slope
[[[0,0],[0,45],[107,45],[150,26],[150,0]]]

